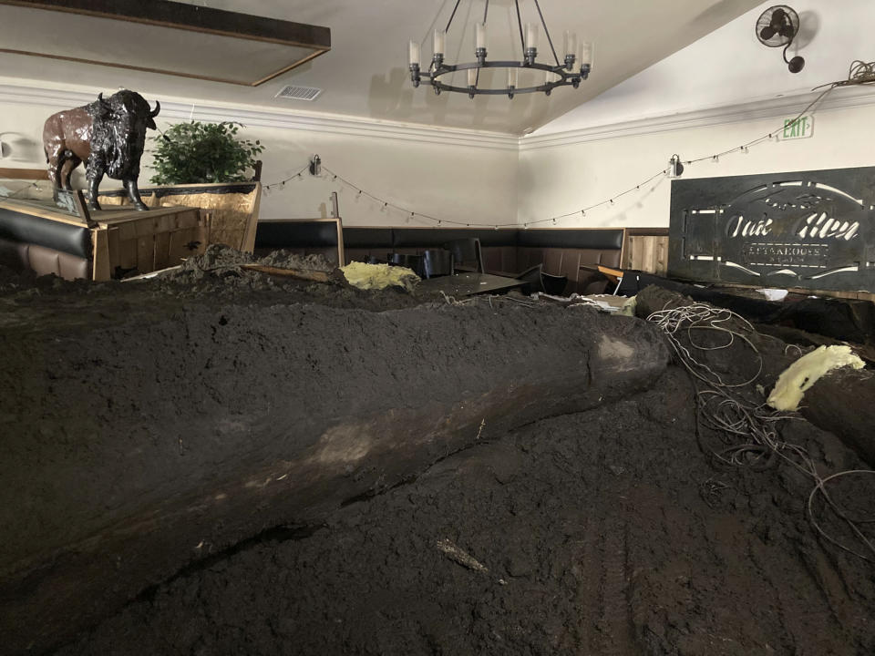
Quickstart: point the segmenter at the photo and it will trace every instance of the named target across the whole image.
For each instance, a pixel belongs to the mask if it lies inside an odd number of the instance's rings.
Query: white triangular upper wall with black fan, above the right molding
[[[571,109],[536,134],[615,126],[711,108],[758,107],[776,98],[807,96],[814,87],[848,77],[854,60],[872,59],[872,0],[842,0],[840,5],[794,0],[800,29],[787,57],[800,55],[806,63],[798,74],[790,73],[781,49],[762,46],[754,31],[757,17],[773,4],[758,5],[586,105]],[[868,95],[871,89],[844,89],[840,95],[850,92]],[[798,102],[801,109],[808,100]]]

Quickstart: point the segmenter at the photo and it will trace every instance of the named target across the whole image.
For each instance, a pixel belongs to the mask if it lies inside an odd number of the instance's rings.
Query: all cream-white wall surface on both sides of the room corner
[[[811,87],[847,75],[854,58],[873,58],[872,0],[798,0],[798,53],[805,69],[791,75],[780,51],[757,43],[754,22],[769,3],[626,80],[527,137],[423,128],[367,119],[308,116],[290,106],[222,107],[161,97],[160,126],[190,116],[239,119],[246,138],[259,138],[265,182],[292,174],[318,153],[335,170],[378,197],[443,220],[495,225],[546,220],[615,196],[664,169],[669,157],[695,159],[734,148],[776,129],[810,99]],[[792,55],[793,53],[791,53]],[[117,69],[106,69],[108,92]],[[44,166],[43,120],[92,99],[92,87],[0,78],[0,139],[12,151],[0,166]],[[152,99],[148,89],[139,89]],[[857,100],[854,100],[857,98]],[[752,102],[753,100],[753,102]],[[741,103],[741,104],[739,104]],[[294,112],[294,113],[293,113]],[[814,136],[759,145],[746,155],[687,168],[685,177],[875,165],[873,87],[842,88],[815,115]],[[18,134],[2,134],[14,130]],[[149,163],[149,158],[144,160]],[[148,179],[148,169],[143,181]],[[114,185],[112,181],[105,183]],[[670,180],[662,177],[613,206],[558,220],[557,226],[666,226]],[[357,197],[326,177],[289,182],[267,195],[262,218],[304,218],[327,211],[340,192],[346,225],[407,225],[409,215]],[[410,225],[433,225],[414,218]]]

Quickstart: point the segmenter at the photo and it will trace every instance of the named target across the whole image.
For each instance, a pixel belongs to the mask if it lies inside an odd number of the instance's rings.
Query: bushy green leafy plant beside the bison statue
[[[153,151],[153,184],[245,182],[252,179],[256,158],[264,147],[237,138],[240,123],[177,123],[160,137]]]

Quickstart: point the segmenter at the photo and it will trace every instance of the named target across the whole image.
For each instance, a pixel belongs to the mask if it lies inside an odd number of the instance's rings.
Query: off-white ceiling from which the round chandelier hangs
[[[520,135],[578,108],[760,4],[759,0],[540,0],[558,49],[564,29],[571,29],[595,44],[592,75],[576,91],[566,87],[556,89],[550,97],[529,94],[511,101],[502,96],[474,100],[461,94],[436,96],[430,87],[415,89],[410,84],[407,41],[411,38],[421,41],[423,59],[430,58],[431,30],[433,26],[446,25],[455,4],[453,0],[186,1],[328,26],[332,31],[332,50],[261,87],[8,54],[0,54],[0,70],[10,77],[72,83],[96,90],[129,87],[150,98],[289,108],[293,112]],[[473,58],[472,24],[482,18],[483,6],[483,0],[461,0],[448,34],[449,61]],[[523,22],[536,19],[531,0],[520,0],[520,7]],[[491,0],[487,24],[489,58],[519,58],[514,12],[513,0]],[[174,38],[179,37],[169,35],[168,42],[154,46],[168,47]],[[549,52],[543,35],[541,42],[539,60]],[[499,74],[503,76],[503,71],[499,70]],[[499,86],[503,82],[503,77],[499,77]],[[314,102],[274,98],[288,84],[320,87],[324,93]]]

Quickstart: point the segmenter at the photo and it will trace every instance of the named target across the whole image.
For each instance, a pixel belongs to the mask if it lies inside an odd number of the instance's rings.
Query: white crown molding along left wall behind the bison
[[[0,103],[38,105],[64,109],[93,102],[94,93],[72,89],[0,84]],[[413,123],[396,123],[368,118],[294,113],[287,109],[251,108],[242,105],[191,103],[161,100],[161,118],[205,121],[235,120],[245,126],[324,132],[366,138],[392,138],[417,143],[467,146],[516,151],[520,140],[514,135],[459,128],[437,128]]]

